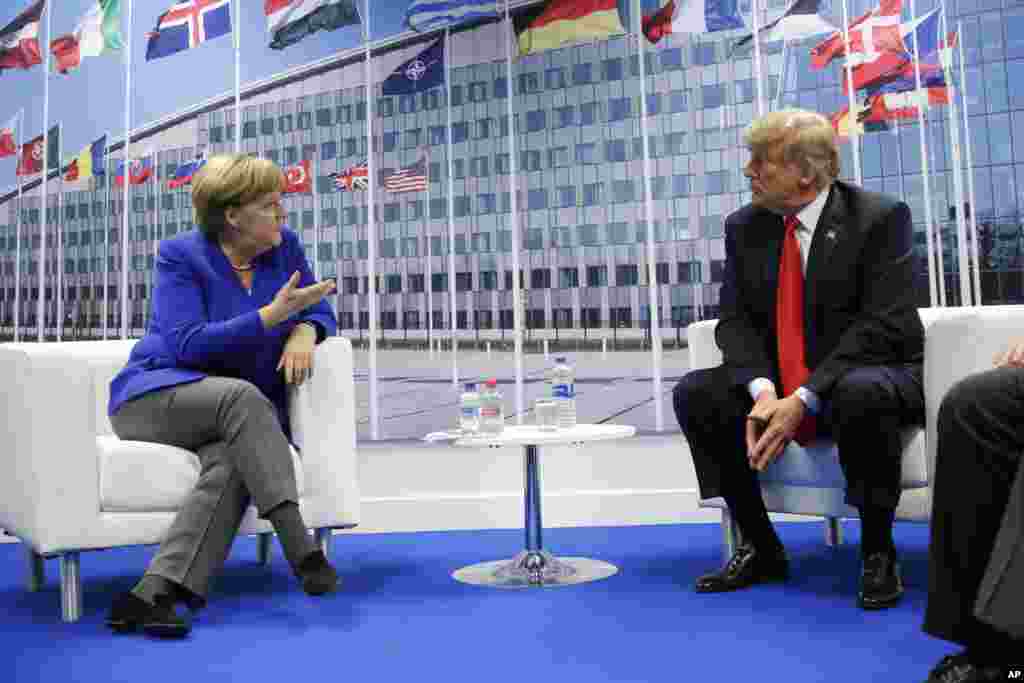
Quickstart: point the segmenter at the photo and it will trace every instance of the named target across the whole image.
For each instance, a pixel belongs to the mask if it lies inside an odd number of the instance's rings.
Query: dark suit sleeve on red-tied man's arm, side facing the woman
[[[763,331],[754,324],[743,301],[739,276],[741,256],[736,245],[736,232],[741,227],[732,218],[725,222],[725,273],[719,295],[715,341],[722,349],[723,365],[729,371],[731,383],[745,386],[758,377],[774,377],[775,364]]]

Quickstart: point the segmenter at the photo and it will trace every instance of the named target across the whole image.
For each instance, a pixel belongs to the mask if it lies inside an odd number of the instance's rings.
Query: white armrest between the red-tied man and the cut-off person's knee
[[[1024,306],[968,306],[949,310],[948,315],[927,326],[925,333],[929,481],[935,477],[936,423],[942,398],[962,379],[991,370],[996,353],[1024,338]]]

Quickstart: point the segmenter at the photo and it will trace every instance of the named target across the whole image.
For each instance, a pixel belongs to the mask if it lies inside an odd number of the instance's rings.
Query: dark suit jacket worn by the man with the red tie
[[[775,297],[784,227],[748,205],[725,221],[725,274],[715,339],[731,381],[778,384]],[[925,331],[913,297],[910,209],[833,183],[814,229],[804,288],[805,386],[822,398],[862,366],[920,362]]]

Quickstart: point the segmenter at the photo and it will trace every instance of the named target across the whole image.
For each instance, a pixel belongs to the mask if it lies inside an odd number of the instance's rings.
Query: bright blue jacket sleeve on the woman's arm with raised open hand
[[[165,322],[164,341],[183,368],[205,370],[266,341],[259,311],[211,323],[200,275],[180,243],[165,241],[157,252],[155,308]]]

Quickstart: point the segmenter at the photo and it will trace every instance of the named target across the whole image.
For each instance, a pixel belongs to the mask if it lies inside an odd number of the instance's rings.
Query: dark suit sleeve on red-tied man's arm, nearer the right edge
[[[856,367],[921,359],[925,331],[913,298],[913,226],[906,204],[897,203],[870,226],[862,262],[860,312],[805,383],[819,395]]]

